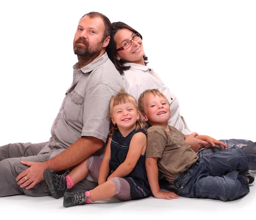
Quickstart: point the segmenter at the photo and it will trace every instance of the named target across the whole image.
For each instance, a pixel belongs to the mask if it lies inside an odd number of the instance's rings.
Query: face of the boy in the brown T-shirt
[[[171,116],[170,106],[162,96],[150,94],[145,98],[144,120],[152,126],[168,124]]]

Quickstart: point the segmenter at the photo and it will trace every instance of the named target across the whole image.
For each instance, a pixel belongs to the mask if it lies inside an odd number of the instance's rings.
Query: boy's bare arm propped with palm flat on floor
[[[177,199],[179,196],[174,192],[160,191],[160,186],[158,182],[158,167],[157,167],[158,157],[146,157],[146,171],[148,176],[148,183],[150,189],[157,199]]]

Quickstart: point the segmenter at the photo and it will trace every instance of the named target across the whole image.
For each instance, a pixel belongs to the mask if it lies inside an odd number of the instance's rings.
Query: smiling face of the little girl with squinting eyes
[[[131,131],[136,127],[136,121],[140,115],[133,103],[122,103],[113,106],[111,111],[111,120],[116,124],[118,129]]]

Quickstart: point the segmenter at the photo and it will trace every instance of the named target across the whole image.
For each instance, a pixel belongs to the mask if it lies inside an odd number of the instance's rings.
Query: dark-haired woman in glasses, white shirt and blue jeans
[[[138,99],[140,94],[145,89],[159,89],[166,95],[171,109],[171,117],[169,125],[185,134],[186,143],[197,152],[204,146],[215,146],[217,140],[198,140],[197,134],[194,132],[190,134],[185,120],[180,116],[180,106],[175,94],[170,91],[165,84],[160,80],[160,77],[148,68],[143,44],[143,37],[141,34],[122,22],[112,23],[111,39],[106,49],[108,57],[116,66],[116,69],[122,75],[125,82],[126,90],[129,94]],[[190,135],[189,135],[190,134]],[[234,145],[239,146],[247,157],[250,170],[256,170],[256,143],[250,140],[221,140],[228,147]],[[224,149],[225,146],[220,146]],[[221,148],[211,147],[203,149],[198,152],[198,156],[204,157],[206,155],[214,154],[220,151]]]

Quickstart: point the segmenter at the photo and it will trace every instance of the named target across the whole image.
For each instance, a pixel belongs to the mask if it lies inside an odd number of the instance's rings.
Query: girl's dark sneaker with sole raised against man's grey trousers
[[[55,199],[62,197],[67,190],[67,174],[68,172],[58,175],[52,169],[46,169],[44,171],[44,180]]]

